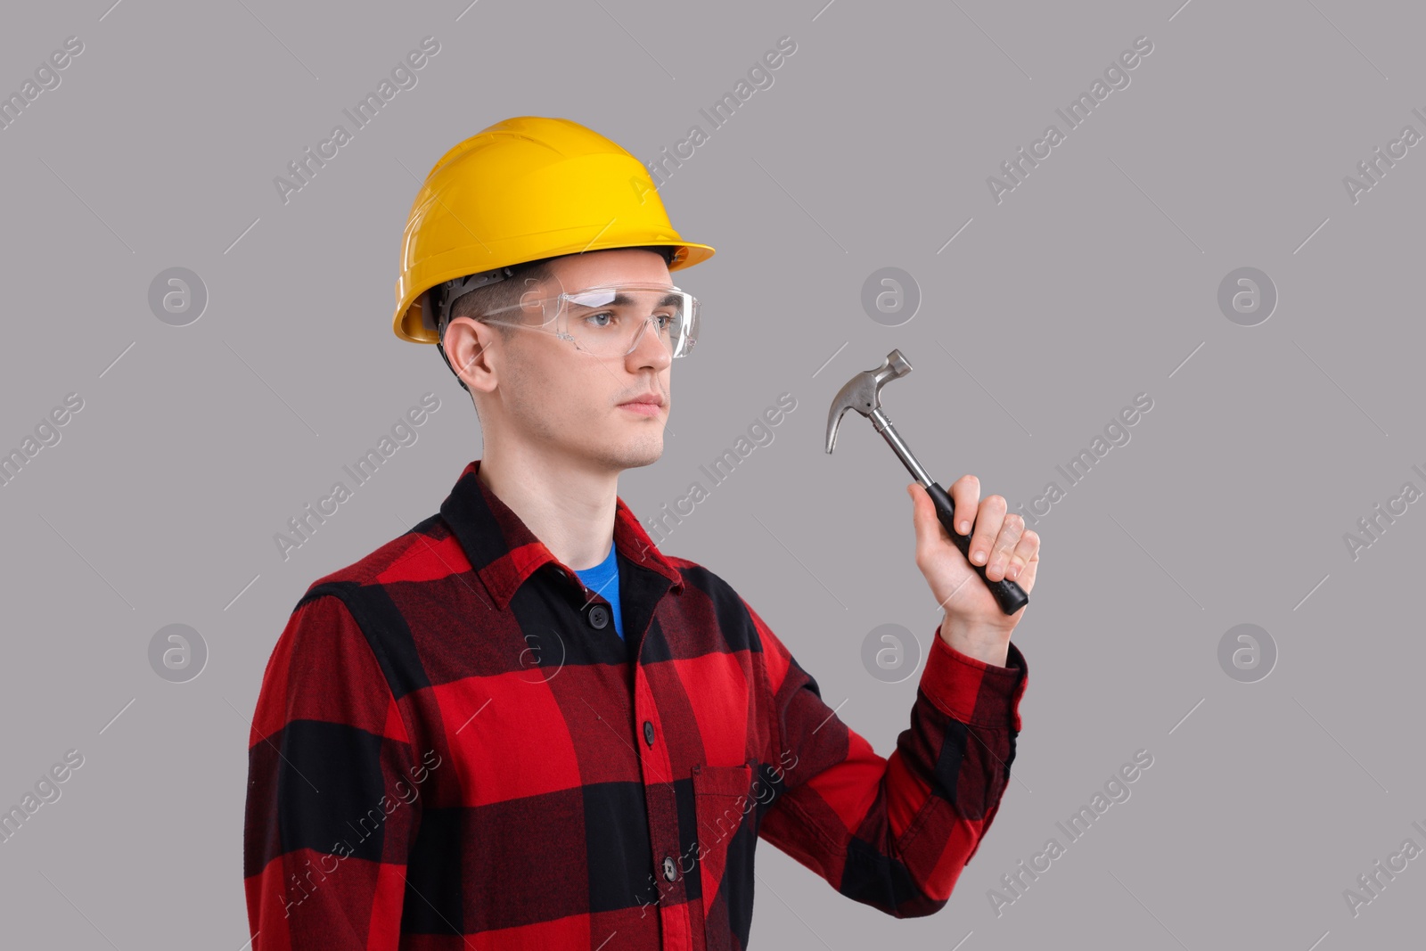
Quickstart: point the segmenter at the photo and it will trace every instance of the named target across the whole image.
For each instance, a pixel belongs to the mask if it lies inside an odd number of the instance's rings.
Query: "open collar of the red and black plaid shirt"
[[[535,538],[529,526],[476,478],[481,461],[469,462],[456,479],[451,495],[441,503],[441,518],[455,533],[471,567],[485,583],[501,610],[542,566],[553,562],[568,577],[580,583],[575,569],[555,557],[545,543]],[[655,546],[639,519],[615,496],[615,549],[626,559],[663,575],[673,582],[673,590],[683,590],[683,575]]]

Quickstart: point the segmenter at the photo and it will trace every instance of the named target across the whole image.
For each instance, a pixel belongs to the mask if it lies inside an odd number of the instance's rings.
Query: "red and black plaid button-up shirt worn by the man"
[[[945,905],[1015,759],[1027,669],[935,632],[890,759],[722,577],[622,499],[627,647],[476,478],[311,585],[262,676],[254,951],[746,948],[770,841],[897,918]]]

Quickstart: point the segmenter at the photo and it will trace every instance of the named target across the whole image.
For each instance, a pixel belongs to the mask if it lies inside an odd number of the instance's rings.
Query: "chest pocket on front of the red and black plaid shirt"
[[[753,767],[694,766],[699,884],[707,951],[740,947],[753,915]]]

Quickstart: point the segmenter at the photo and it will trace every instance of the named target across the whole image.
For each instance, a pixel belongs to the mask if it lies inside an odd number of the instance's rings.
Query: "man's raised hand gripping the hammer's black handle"
[[[913,482],[907,492],[914,506],[915,566],[931,586],[935,602],[945,609],[938,636],[963,654],[1004,667],[1010,634],[1025,609],[1014,615],[1001,612],[994,595],[935,518],[935,503],[921,483]],[[985,565],[987,579],[1012,580],[1028,595],[1040,566],[1040,535],[1027,529],[1021,516],[1007,515],[1004,496],[981,499],[980,479],[973,475],[953,482],[947,495],[954,503],[957,532],[965,535],[974,523],[971,562]]]

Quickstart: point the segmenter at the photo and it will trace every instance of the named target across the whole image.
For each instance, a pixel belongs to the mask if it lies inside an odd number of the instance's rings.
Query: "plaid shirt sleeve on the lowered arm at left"
[[[254,951],[395,951],[416,784],[429,766],[416,761],[345,602],[299,602],[248,736],[242,874]]]

